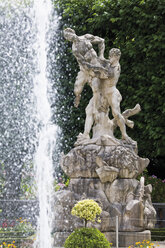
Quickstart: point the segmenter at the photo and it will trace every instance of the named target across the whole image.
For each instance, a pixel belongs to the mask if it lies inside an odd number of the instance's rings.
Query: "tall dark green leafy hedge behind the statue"
[[[135,127],[128,134],[138,142],[141,156],[149,157],[153,164],[155,159],[160,163],[159,158],[165,157],[164,0],[58,0],[55,6],[61,16],[61,30],[71,27],[77,35],[92,33],[105,38],[105,57],[110,48],[121,49],[122,70],[117,86],[123,96],[121,108],[139,103],[142,109],[133,117]],[[57,123],[63,132],[62,148],[68,151],[83,132],[85,107],[92,93],[86,88],[79,109],[73,107],[78,65],[71,43],[63,40],[62,32],[60,35],[65,48],[59,62],[63,78],[58,84]]]

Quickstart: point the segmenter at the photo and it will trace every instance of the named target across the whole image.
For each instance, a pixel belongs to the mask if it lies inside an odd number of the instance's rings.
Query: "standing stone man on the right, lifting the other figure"
[[[133,127],[133,122],[128,120],[127,118],[124,118],[124,115],[121,114],[121,110],[120,110],[120,102],[122,100],[122,96],[120,94],[120,92],[118,91],[118,89],[116,88],[118,79],[120,77],[120,63],[119,63],[119,59],[121,56],[121,52],[119,49],[117,48],[112,48],[109,51],[109,60],[105,60],[105,65],[107,67],[107,61],[110,65],[110,68],[108,71],[111,72],[109,74],[107,74],[107,70],[105,70],[102,67],[98,67],[98,71],[100,72],[100,75],[97,73],[97,76],[99,76],[100,79],[100,84],[99,84],[99,92],[101,92],[101,98],[104,98],[104,106],[105,107],[105,111],[103,111],[103,108],[101,108],[102,106],[99,105],[99,101],[97,101],[97,103],[94,103],[94,96],[93,98],[90,100],[87,108],[86,108],[86,121],[85,121],[85,130],[84,130],[84,134],[87,136],[89,135],[89,132],[91,130],[91,127],[93,125],[94,122],[94,115],[93,113],[95,112],[99,112],[99,109],[101,109],[100,112],[105,112],[105,116],[107,115],[107,104],[108,104],[108,108],[109,106],[111,107],[112,110],[112,115],[114,117],[114,122],[117,123],[117,125],[120,128],[121,134],[122,134],[122,139],[128,141],[128,142],[132,142],[131,138],[127,135],[126,133],[126,124],[129,127]],[[92,68],[93,66],[91,65],[90,68]],[[93,67],[94,68],[94,67]],[[101,73],[105,71],[104,73],[104,77],[102,77]],[[106,76],[107,77],[106,77]],[[99,98],[97,99],[99,100]],[[93,108],[92,108],[93,106]],[[94,107],[95,106],[95,107]],[[131,112],[134,114],[136,112],[140,111],[140,106],[136,106],[136,109],[132,109]],[[111,128],[112,124],[111,124]]]

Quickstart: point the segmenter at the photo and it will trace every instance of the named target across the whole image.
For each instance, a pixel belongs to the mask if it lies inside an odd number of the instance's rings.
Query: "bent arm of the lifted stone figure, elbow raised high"
[[[97,44],[98,45],[99,58],[104,59],[104,50],[105,50],[104,39],[100,38],[99,36],[94,36],[92,34],[85,34],[84,37],[86,39],[90,40],[90,42],[92,44]]]

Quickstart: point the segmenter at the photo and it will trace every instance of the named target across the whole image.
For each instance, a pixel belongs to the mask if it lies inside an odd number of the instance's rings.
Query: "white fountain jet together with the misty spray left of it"
[[[57,127],[51,121],[47,57],[48,33],[51,25],[56,31],[57,18],[53,16],[51,0],[4,0],[0,6],[0,160],[6,166],[4,198],[19,200],[22,168],[33,160],[39,201],[34,247],[51,248],[52,153]]]

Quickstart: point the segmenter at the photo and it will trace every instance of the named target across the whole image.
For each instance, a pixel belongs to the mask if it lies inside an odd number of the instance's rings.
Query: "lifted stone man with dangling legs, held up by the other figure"
[[[99,80],[96,78],[94,73],[94,68],[90,68],[90,65],[95,65],[101,67],[101,60],[104,60],[104,50],[105,44],[104,39],[94,36],[91,34],[85,34],[82,36],[77,36],[75,31],[71,28],[64,30],[65,39],[72,41],[72,52],[76,57],[77,62],[80,67],[80,71],[76,77],[76,82],[74,85],[74,94],[76,96],[74,105],[78,107],[81,92],[85,83],[89,83],[93,93],[97,94]],[[96,51],[93,49],[92,44],[98,45],[99,57]]]

